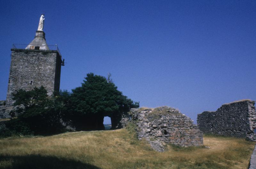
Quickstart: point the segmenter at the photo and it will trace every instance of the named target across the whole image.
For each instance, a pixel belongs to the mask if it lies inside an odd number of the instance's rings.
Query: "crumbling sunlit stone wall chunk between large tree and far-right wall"
[[[131,109],[129,115],[122,119],[123,125],[136,122],[138,138],[145,138],[156,151],[164,151],[164,143],[183,147],[203,145],[203,133],[177,109],[167,106]]]

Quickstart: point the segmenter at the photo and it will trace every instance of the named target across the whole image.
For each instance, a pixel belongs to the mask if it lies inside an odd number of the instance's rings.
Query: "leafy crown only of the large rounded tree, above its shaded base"
[[[113,116],[139,107],[139,102],[133,102],[124,96],[112,80],[108,81],[105,77],[93,73],[87,74],[82,86],[72,92],[71,102],[74,110],[84,115]]]

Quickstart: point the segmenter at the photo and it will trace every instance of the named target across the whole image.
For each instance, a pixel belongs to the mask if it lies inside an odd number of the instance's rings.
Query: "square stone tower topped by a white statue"
[[[60,89],[60,69],[64,65],[57,47],[47,45],[43,31],[44,15],[41,15],[35,39],[20,47],[13,45],[6,105],[11,106],[12,92],[44,86],[48,95]]]

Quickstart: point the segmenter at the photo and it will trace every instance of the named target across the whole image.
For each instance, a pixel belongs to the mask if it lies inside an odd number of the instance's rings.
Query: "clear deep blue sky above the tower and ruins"
[[[140,106],[205,110],[256,100],[256,1],[1,1],[0,100],[13,43],[28,44],[41,13],[67,62],[60,88],[107,76]],[[107,122],[105,122],[107,123]]]

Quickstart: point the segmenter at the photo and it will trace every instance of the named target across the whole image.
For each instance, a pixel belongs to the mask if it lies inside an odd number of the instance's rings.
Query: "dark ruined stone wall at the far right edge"
[[[255,102],[244,100],[222,105],[217,111],[197,115],[197,125],[203,133],[256,140]]]

